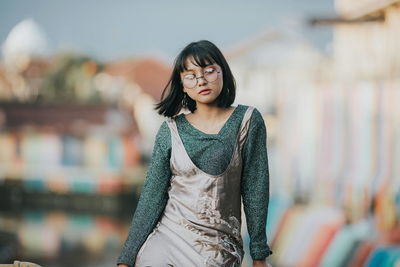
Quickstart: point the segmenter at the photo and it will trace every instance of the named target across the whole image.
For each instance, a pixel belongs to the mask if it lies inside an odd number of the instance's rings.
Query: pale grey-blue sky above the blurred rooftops
[[[33,19],[49,53],[73,50],[104,61],[170,61],[191,41],[208,39],[224,50],[277,29],[298,32],[326,52],[332,29],[306,22],[334,14],[333,0],[2,0],[0,44],[16,24]]]

